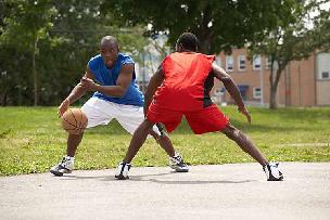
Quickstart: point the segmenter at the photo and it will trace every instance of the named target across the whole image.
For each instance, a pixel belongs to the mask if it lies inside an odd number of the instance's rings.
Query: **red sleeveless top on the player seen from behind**
[[[176,52],[162,63],[165,80],[157,88],[154,102],[174,111],[198,111],[212,104],[210,91],[214,55]]]

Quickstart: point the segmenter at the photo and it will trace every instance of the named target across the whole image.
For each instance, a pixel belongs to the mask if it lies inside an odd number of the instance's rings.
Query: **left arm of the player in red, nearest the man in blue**
[[[153,99],[153,95],[154,95],[157,87],[160,87],[163,83],[164,79],[165,79],[165,77],[163,74],[163,67],[162,67],[162,65],[160,65],[156,73],[151,77],[150,82],[147,87],[147,91],[144,94],[144,108],[143,108],[144,116],[147,115],[149,105]]]

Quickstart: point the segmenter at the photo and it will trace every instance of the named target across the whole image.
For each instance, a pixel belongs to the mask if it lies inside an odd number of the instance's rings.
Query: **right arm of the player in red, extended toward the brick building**
[[[239,88],[236,86],[234,81],[232,80],[231,76],[225,72],[221,67],[219,67],[215,62],[212,64],[212,69],[215,77],[220,80],[226,89],[228,90],[229,94],[233,98],[236,104],[238,105],[238,109],[240,113],[245,115],[249,122],[251,122],[251,116],[249,111],[246,109]]]

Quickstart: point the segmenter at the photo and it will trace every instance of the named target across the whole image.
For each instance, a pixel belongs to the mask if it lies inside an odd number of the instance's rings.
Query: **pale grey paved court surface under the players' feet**
[[[281,163],[282,182],[258,164],[132,167],[0,178],[0,219],[330,219],[330,163]]]

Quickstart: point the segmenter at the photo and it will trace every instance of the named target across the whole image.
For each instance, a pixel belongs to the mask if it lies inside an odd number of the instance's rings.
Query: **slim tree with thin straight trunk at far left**
[[[5,1],[11,9],[3,20],[1,44],[13,44],[21,51],[31,54],[31,72],[34,76],[34,104],[38,104],[38,75],[36,55],[39,53],[38,42],[48,37],[52,27],[51,18],[55,9],[49,0]]]

